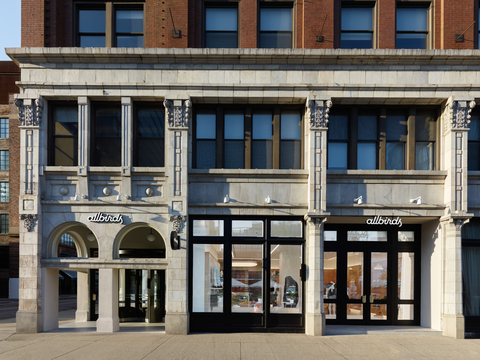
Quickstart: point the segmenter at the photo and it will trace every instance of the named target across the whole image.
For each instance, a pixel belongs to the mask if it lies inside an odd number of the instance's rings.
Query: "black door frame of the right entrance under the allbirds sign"
[[[325,252],[337,253],[337,298],[335,300],[324,299],[325,304],[336,305],[336,319],[327,319],[327,324],[341,325],[420,325],[420,281],[421,281],[421,227],[420,225],[398,226],[371,226],[371,225],[346,225],[346,224],[325,224],[325,231],[337,231],[337,241],[325,241]],[[387,241],[347,241],[348,231],[387,231]],[[413,242],[399,242],[398,231],[413,231],[415,240]],[[366,295],[366,302],[361,299],[353,300],[347,297],[347,253],[363,252],[364,256],[364,278],[363,294]],[[371,254],[374,252],[387,252],[387,299],[374,301],[377,304],[387,305],[386,320],[369,319],[370,303],[370,278],[371,278]],[[414,253],[414,300],[398,299],[398,253]],[[346,318],[347,303],[358,303],[364,305],[363,319],[353,320]],[[398,305],[413,305],[413,320],[398,320]]]

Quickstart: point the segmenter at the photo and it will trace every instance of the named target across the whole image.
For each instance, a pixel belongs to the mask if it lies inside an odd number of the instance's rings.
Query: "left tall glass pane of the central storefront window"
[[[223,312],[223,244],[193,245],[194,312]]]

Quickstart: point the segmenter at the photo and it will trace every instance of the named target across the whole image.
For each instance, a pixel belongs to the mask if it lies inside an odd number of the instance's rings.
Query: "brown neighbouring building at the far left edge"
[[[13,61],[0,61],[0,298],[18,299],[19,233],[18,191],[20,132],[15,81],[20,69]],[[13,191],[10,191],[12,189]]]

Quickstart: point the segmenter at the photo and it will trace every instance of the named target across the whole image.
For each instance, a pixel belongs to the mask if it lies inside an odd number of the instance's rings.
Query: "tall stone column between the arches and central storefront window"
[[[187,199],[188,199],[188,127],[192,102],[188,100],[165,100],[168,131],[165,134],[165,175],[168,196],[168,213],[171,231],[180,236],[180,249],[172,250],[167,241],[168,269],[167,311],[165,331],[167,334],[188,333],[187,304]],[[168,234],[170,238],[170,233]]]

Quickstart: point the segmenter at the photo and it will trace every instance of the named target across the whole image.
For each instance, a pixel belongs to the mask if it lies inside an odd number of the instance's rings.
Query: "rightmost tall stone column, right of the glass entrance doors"
[[[468,125],[474,101],[449,98],[443,112],[445,215],[440,219],[443,245],[443,334],[463,339],[462,233],[467,214]]]

